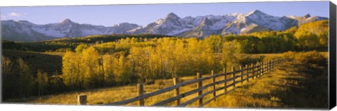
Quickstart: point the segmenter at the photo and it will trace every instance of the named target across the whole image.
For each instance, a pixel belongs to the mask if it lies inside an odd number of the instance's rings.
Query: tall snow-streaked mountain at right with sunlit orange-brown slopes
[[[253,10],[238,20],[230,22],[223,28],[221,35],[228,33],[232,34],[247,34],[256,31],[283,31],[290,27],[299,26],[308,22],[314,22],[317,20],[327,20],[326,17],[310,17],[305,15],[304,17],[296,16],[284,16],[276,17],[267,15],[260,10]]]

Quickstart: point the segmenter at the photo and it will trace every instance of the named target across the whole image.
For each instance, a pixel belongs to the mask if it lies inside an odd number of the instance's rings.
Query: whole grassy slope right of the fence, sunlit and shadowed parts
[[[206,107],[328,108],[327,82],[327,66],[288,62]]]

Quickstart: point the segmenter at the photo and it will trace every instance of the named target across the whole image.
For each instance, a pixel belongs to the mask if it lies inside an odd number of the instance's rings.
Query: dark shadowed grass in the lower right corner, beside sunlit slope
[[[255,94],[254,98],[277,96],[284,108],[328,108],[327,66],[287,63],[278,70],[285,84],[271,84],[286,88],[285,91],[272,90],[270,94]]]

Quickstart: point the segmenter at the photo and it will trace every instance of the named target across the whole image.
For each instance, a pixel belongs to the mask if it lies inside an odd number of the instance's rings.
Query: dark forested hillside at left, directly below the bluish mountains
[[[94,35],[77,38],[59,38],[46,41],[35,42],[14,42],[11,40],[1,40],[5,50],[22,50],[35,52],[67,52],[74,50],[80,44],[100,44],[119,40],[121,38],[162,38],[164,35],[156,34],[112,34],[112,35]]]

